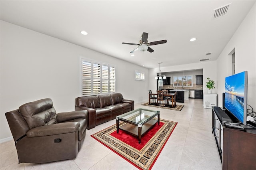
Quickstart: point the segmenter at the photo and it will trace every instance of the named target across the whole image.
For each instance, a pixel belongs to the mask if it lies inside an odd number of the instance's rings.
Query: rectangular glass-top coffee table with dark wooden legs
[[[153,119],[156,116],[158,119]],[[126,124],[119,127],[119,121],[126,122]],[[140,143],[141,136],[148,132],[157,122],[159,125],[160,111],[139,108],[116,117],[116,132],[118,133],[119,129],[122,129],[134,136],[138,136]]]

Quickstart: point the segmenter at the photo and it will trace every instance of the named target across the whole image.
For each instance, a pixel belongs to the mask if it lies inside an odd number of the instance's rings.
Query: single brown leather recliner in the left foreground
[[[51,99],[26,103],[5,113],[19,163],[76,158],[86,134],[88,111],[58,113]]]

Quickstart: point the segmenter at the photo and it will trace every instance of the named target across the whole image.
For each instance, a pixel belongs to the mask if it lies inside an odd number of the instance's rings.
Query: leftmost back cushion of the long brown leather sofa
[[[100,108],[100,99],[96,95],[78,97],[76,98],[76,106],[84,106],[92,109]]]

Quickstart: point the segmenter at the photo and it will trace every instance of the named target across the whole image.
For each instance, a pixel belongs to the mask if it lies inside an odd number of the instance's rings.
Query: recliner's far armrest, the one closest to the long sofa
[[[87,119],[88,111],[72,111],[72,112],[62,112],[57,114],[58,123],[64,121],[70,121],[74,119],[84,118]]]

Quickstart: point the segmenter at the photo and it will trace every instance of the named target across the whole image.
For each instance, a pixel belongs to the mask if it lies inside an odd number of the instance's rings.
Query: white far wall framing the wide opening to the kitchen
[[[192,69],[203,69],[203,93],[208,93],[207,88],[205,87],[205,83],[207,81],[207,77],[210,77],[211,80],[215,81],[216,89],[212,90],[212,93],[217,93],[217,72],[216,72],[216,61],[204,61],[200,63],[191,63],[184,65],[174,65],[170,67],[162,67],[161,71],[172,72],[172,71],[183,71],[183,70],[192,70]],[[154,77],[156,77],[156,73],[159,72],[159,68],[154,68],[149,70],[149,89],[156,90],[157,85]]]

